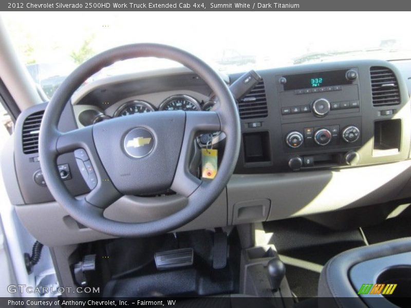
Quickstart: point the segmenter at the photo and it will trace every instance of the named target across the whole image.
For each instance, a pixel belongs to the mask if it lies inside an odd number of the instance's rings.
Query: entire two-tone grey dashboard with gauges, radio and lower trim
[[[411,198],[410,61],[328,62],[257,73],[261,80],[237,102],[241,148],[234,175],[192,228],[284,219]],[[232,84],[242,75],[222,78]],[[86,84],[72,95],[59,129],[69,131],[136,112],[210,110],[216,104],[212,97],[210,87],[185,68],[110,77]],[[17,120],[11,163],[3,166],[8,169],[4,173],[10,174],[9,195],[20,192],[12,202],[25,205],[18,206],[18,215],[29,229],[33,213],[37,213],[35,221],[47,225],[44,214],[53,210],[62,220],[55,224],[70,234],[66,243],[96,239],[92,230],[74,236],[74,230],[81,227],[69,222],[58,207],[50,207],[53,198],[42,179],[35,133],[45,107],[24,110]],[[215,138],[213,146],[222,153],[224,142]],[[74,196],[89,191],[73,153],[60,156],[57,163]],[[336,196],[338,200],[329,202]],[[152,201],[138,196],[123,198],[114,209],[106,210],[108,216],[139,221],[171,210],[161,208],[152,213],[155,205],[161,207],[157,197],[148,198]],[[152,202],[152,208],[145,202]],[[37,210],[29,210],[30,206]],[[43,235],[38,225],[31,229]]]

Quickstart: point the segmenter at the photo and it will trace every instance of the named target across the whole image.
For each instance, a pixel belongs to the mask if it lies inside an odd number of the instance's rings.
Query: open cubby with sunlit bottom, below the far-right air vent
[[[372,156],[395,155],[401,150],[401,120],[384,120],[374,123]]]

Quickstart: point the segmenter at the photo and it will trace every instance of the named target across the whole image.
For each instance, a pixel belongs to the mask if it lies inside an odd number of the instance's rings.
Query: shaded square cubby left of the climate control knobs
[[[244,160],[246,163],[269,162],[270,138],[268,131],[248,132],[242,134],[244,143]]]

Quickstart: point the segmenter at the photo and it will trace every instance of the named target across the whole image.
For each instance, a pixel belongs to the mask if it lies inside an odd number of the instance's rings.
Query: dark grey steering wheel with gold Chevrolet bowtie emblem
[[[116,61],[135,57],[173,60],[197,73],[218,97],[214,111],[165,111],[129,115],[69,132],[58,123],[73,92],[92,74]],[[223,131],[226,148],[216,177],[202,181],[189,171],[190,153],[199,133]],[[233,174],[240,148],[240,120],[225,82],[196,56],[160,44],[132,44],[102,52],[74,70],[54,93],[40,127],[40,165],[47,186],[68,214],[83,225],[119,237],[170,232],[206,210]],[[97,185],[84,198],[73,197],[60,179],[57,158],[83,149]],[[76,153],[76,152],[74,152]],[[176,213],[155,221],[125,223],[107,219],[104,209],[123,195],[153,194],[170,188],[187,200]]]

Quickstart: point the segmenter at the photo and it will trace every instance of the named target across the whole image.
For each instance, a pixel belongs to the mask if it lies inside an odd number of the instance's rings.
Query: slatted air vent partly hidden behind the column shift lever
[[[241,119],[266,118],[267,98],[264,88],[264,81],[260,81],[246,95],[246,97],[238,102],[238,112]]]

